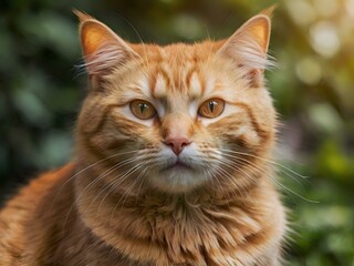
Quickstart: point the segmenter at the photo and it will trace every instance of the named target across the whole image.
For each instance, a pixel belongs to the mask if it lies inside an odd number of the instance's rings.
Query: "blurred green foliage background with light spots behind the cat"
[[[229,37],[273,3],[278,68],[267,78],[294,229],[287,259],[354,266],[354,0],[1,0],[0,202],[70,161],[86,88],[73,8],[132,42],[164,44]]]

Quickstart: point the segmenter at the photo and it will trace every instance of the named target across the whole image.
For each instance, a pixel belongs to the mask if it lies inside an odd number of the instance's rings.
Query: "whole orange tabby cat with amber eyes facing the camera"
[[[228,40],[132,44],[77,12],[76,156],[0,213],[0,265],[280,265],[270,11]]]

